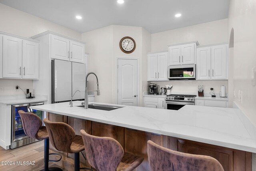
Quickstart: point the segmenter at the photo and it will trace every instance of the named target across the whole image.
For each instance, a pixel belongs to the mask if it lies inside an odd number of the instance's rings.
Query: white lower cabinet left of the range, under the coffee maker
[[[144,97],[144,107],[164,109],[164,97]]]

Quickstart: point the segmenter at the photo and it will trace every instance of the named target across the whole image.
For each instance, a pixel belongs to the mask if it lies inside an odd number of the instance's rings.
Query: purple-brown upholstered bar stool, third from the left
[[[81,130],[86,158],[97,171],[132,171],[143,157],[124,152],[118,141],[110,137],[96,137]]]

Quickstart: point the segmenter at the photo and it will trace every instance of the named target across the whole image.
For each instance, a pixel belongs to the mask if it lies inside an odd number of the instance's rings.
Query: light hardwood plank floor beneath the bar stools
[[[50,153],[54,151],[50,150]],[[50,155],[50,159],[58,159]],[[44,141],[38,141],[16,149],[0,147],[0,161],[14,161],[15,165],[0,165],[0,171],[39,171],[44,168]],[[34,161],[34,165],[16,165],[16,161]],[[59,167],[63,171],[74,171],[74,160],[62,155],[61,161],[49,162],[49,167]],[[86,167],[80,163],[80,167]]]

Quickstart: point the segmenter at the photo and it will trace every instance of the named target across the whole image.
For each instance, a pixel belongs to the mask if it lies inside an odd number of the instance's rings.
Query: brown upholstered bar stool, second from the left
[[[83,139],[76,135],[74,129],[64,122],[51,122],[44,118],[44,124],[49,134],[52,145],[58,150],[65,153],[74,153],[74,171],[90,168],[80,168],[79,152],[84,150]]]

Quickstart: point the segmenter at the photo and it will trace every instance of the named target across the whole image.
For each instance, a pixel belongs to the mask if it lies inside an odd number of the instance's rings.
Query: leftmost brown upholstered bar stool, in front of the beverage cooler
[[[32,137],[37,140],[44,139],[44,169],[41,171],[62,171],[62,169],[58,167],[48,167],[49,161],[60,161],[61,155],[58,153],[50,153],[49,154],[49,137],[45,126],[42,126],[42,121],[40,117],[38,117],[34,113],[24,112],[23,110],[19,110],[20,118],[22,121],[23,129],[26,135]],[[59,155],[59,160],[49,160],[49,155]]]

